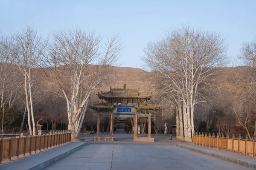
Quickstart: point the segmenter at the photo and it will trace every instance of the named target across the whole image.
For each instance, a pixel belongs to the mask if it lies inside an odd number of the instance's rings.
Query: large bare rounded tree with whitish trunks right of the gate
[[[216,67],[226,64],[225,40],[215,32],[185,26],[173,29],[160,41],[148,42],[144,51],[145,66],[162,74],[160,80],[165,80],[162,83],[177,105],[182,105],[184,140],[192,141],[195,105],[206,102],[199,86],[209,82]]]

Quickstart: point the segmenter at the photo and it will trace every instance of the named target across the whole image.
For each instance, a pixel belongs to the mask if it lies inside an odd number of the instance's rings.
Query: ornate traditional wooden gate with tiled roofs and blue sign
[[[111,88],[106,93],[97,94],[99,99],[105,102],[90,105],[90,108],[97,111],[97,136],[94,141],[113,141],[113,122],[114,117],[133,118],[134,119],[134,141],[154,142],[151,138],[151,113],[160,109],[160,105],[151,105],[147,101],[151,99],[151,95],[140,92],[140,89]],[[110,117],[109,137],[99,136],[100,117]],[[138,137],[138,118],[148,118],[148,137]]]

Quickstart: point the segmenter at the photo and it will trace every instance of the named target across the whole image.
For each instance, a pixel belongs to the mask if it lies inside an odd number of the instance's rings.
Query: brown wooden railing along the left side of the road
[[[70,130],[53,130],[46,135],[16,136],[0,138],[0,164],[2,160],[11,161],[26,154],[41,152],[71,142]]]

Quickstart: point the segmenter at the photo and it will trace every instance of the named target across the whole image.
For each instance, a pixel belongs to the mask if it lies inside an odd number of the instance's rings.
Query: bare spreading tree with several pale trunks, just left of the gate
[[[119,58],[121,41],[114,34],[103,42],[95,32],[87,34],[78,27],[54,31],[52,35],[45,57],[49,71],[45,73],[67,102],[68,129],[74,139],[79,136],[90,94],[109,79],[111,65]],[[100,43],[105,46],[101,48]]]

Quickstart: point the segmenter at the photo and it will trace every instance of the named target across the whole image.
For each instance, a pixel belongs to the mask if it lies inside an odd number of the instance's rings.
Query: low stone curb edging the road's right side
[[[230,158],[228,156],[223,156],[223,155],[220,155],[220,154],[207,152],[207,151],[204,151],[204,150],[184,146],[184,145],[181,145],[181,144],[176,144],[176,146],[181,147],[183,149],[191,150],[191,151],[194,151],[194,152],[197,152],[197,153],[202,153],[204,155],[212,156],[212,157],[215,157],[215,158],[218,158],[218,159],[222,159],[224,161],[229,161],[229,162],[232,162],[232,163],[235,163],[235,164],[243,165],[245,167],[250,167],[250,168],[256,169],[256,164],[252,164],[252,163],[249,163],[249,162],[246,162],[246,161],[241,161],[239,159]]]

